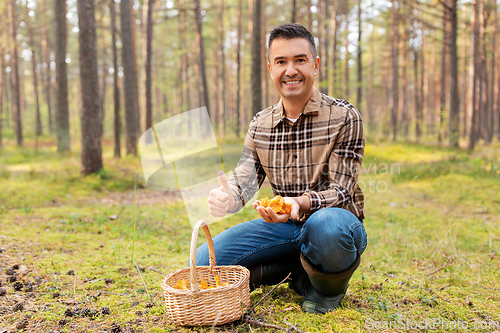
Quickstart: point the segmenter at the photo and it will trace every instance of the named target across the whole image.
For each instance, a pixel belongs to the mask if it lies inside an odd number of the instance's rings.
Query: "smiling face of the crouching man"
[[[314,59],[305,38],[275,39],[267,68],[282,98],[302,102],[311,97],[319,57]]]

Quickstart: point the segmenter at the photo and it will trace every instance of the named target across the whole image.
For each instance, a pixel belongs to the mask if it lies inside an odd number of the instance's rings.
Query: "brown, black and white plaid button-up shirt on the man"
[[[314,88],[293,123],[280,100],[250,123],[241,159],[229,179],[238,205],[233,212],[253,197],[267,176],[274,195],[309,196],[311,214],[340,207],[363,220],[358,175],[364,147],[363,120],[350,103]]]

